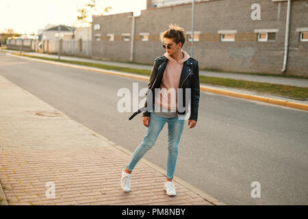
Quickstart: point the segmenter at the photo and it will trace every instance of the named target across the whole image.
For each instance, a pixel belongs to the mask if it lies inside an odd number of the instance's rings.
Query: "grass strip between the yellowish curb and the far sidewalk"
[[[14,53],[19,55],[18,53]],[[89,62],[78,62],[78,61],[69,61],[69,60],[57,60],[49,57],[38,57],[34,55],[23,55],[26,57],[34,57],[40,60],[50,60],[55,62],[64,62],[68,64],[78,64],[81,66],[90,66],[95,68],[103,68],[107,70],[118,70],[125,73],[134,73],[140,75],[151,75],[151,70],[143,70],[136,68],[125,68],[120,66],[109,66],[105,64],[89,63]],[[220,77],[207,77],[200,75],[200,82],[207,83],[211,85],[224,86],[228,88],[240,88],[244,90],[252,90],[257,92],[263,92],[266,94],[276,94],[279,96],[288,96],[297,99],[308,99],[308,88],[300,88],[296,86],[287,86],[276,83],[264,83],[264,82],[255,82],[255,81],[244,81],[238,79],[227,79]]]

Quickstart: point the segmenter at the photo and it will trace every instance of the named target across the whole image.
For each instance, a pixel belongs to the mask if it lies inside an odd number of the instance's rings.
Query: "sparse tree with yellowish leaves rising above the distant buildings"
[[[110,12],[112,7],[107,6],[101,8],[97,3],[97,0],[90,0],[90,3],[86,3],[84,7],[78,9],[77,21],[74,23],[74,27],[90,27],[92,25],[92,16],[101,16]]]

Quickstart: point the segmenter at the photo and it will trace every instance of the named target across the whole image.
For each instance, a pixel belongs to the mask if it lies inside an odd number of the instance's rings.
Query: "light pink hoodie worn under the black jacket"
[[[190,55],[183,50],[182,53],[183,59],[178,62],[168,53],[164,54],[168,59],[168,63],[162,77],[160,92],[155,92],[155,104],[167,108],[168,110],[177,110],[177,88],[179,88],[179,79],[182,73],[183,62],[190,57]]]

